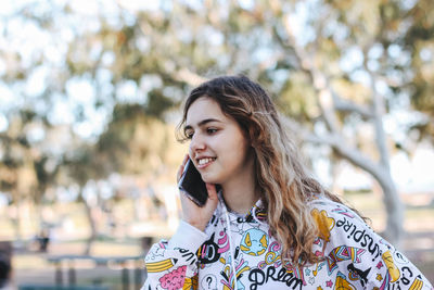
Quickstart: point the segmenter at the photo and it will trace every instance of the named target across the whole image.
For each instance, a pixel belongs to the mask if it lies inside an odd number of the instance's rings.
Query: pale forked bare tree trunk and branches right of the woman
[[[394,244],[399,244],[404,234],[403,220],[404,209],[399,200],[396,187],[392,180],[390,169],[388,150],[386,144],[386,134],[383,128],[383,116],[386,112],[384,97],[378,92],[375,87],[375,79],[378,76],[369,70],[367,64],[367,51],[363,50],[365,59],[363,66],[366,72],[370,75],[370,87],[372,90],[371,106],[360,105],[345,100],[332,89],[330,85],[330,77],[323,74],[315,66],[312,55],[315,50],[307,52],[303,47],[298,46],[293,35],[292,27],[289,22],[283,24],[286,31],[286,38],[282,38],[277,30],[273,36],[282,45],[283,48],[292,49],[294,56],[299,65],[301,71],[305,72],[314,84],[315,90],[318,94],[318,105],[322,111],[322,118],[328,128],[328,136],[323,138],[314,137],[312,139],[320,139],[320,143],[328,143],[336,150],[343,157],[347,159],[354,165],[361,167],[371,174],[380,184],[383,190],[383,202],[386,209],[386,229],[385,237]],[[349,111],[359,114],[361,117],[369,119],[375,129],[375,143],[380,162],[368,157],[356,147],[352,147],[342,135],[342,126],[336,117],[337,111]]]

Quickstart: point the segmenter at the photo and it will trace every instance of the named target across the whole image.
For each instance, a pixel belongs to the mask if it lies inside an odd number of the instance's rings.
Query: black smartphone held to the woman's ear
[[[201,174],[197,172],[193,162],[189,159],[186,163],[178,188],[187,193],[193,202],[199,206],[204,206],[208,199],[208,190],[206,189]]]

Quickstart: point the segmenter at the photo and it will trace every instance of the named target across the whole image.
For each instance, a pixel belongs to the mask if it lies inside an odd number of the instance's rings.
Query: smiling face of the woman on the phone
[[[252,172],[250,142],[213,99],[201,97],[190,105],[184,131],[190,138],[190,159],[205,182],[224,186]]]

